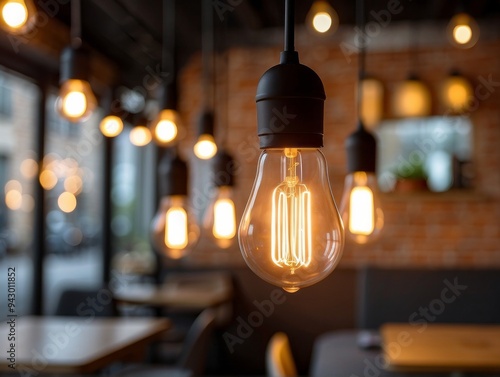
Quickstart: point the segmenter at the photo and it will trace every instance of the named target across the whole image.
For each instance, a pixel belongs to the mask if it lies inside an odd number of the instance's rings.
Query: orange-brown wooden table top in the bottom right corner
[[[500,326],[389,323],[381,328],[392,371],[500,371]]]

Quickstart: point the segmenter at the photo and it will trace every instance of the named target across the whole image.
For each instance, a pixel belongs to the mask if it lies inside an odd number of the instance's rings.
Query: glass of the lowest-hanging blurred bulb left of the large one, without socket
[[[151,223],[155,249],[168,258],[184,257],[198,241],[200,231],[186,196],[165,196]]]

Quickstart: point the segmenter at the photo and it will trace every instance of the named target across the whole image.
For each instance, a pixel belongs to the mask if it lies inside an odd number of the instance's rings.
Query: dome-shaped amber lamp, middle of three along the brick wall
[[[392,112],[399,117],[427,116],[431,112],[431,95],[420,80],[406,80],[394,91]]]

